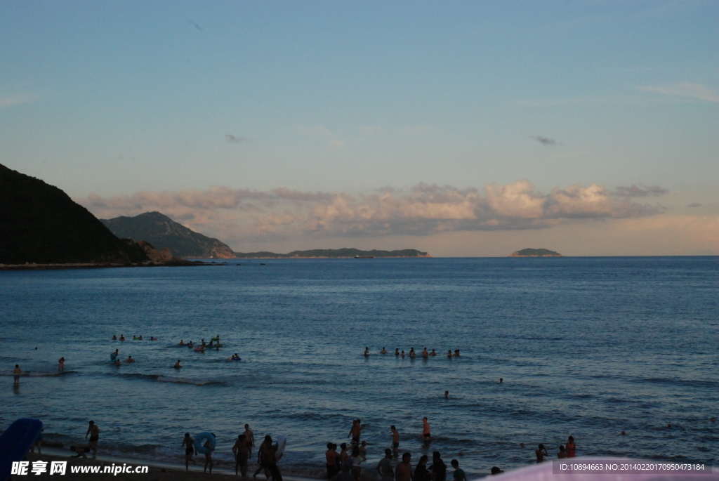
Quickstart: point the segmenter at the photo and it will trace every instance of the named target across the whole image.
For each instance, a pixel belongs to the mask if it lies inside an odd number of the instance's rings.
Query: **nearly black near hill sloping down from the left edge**
[[[0,264],[146,260],[59,188],[0,165]]]

